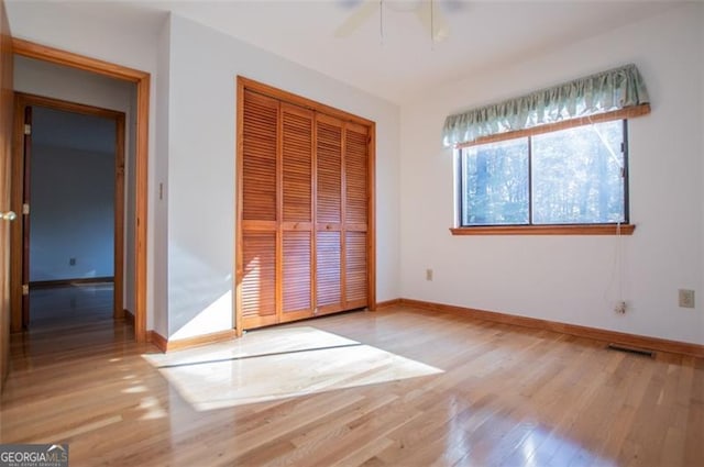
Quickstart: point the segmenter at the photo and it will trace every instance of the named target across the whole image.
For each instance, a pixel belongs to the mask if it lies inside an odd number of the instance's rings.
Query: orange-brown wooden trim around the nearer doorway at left
[[[134,311],[134,338],[136,342],[146,342],[146,229],[147,229],[147,167],[148,167],[148,113],[150,113],[150,82],[148,73],[128,68],[121,65],[111,64],[96,58],[86,57],[70,52],[61,51],[58,48],[47,47],[29,41],[12,38],[12,52],[29,58],[63,65],[70,68],[81,69],[84,71],[95,73],[97,75],[110,78],[121,79],[136,85],[136,129],[135,129],[135,232],[134,232],[134,293],[135,309]],[[16,151],[16,149],[15,149]],[[15,189],[14,187],[12,188]],[[21,211],[20,211],[21,212]],[[21,238],[18,238],[16,222],[12,230],[13,252],[18,252],[14,245],[19,245]],[[19,257],[18,257],[19,256]],[[20,255],[13,255],[11,258],[11,310],[12,310],[12,331],[21,331],[21,305],[22,305],[22,283],[21,270],[22,262]]]

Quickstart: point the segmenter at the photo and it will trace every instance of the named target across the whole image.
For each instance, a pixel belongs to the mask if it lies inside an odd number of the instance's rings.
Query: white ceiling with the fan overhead
[[[373,13],[350,35],[336,36],[355,9],[369,1],[374,3],[369,7]],[[414,13],[430,0],[384,0],[383,21],[378,0],[82,0],[58,4],[90,18],[103,16],[112,24],[123,22],[132,30],[140,24],[154,29],[172,11],[400,104],[426,89],[549,53],[682,3],[433,1],[450,29],[442,42],[433,42]]]

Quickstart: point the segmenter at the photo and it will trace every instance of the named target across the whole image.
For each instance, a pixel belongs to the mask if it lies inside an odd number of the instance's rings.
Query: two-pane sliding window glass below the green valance
[[[628,223],[626,120],[536,133],[458,149],[460,227]]]

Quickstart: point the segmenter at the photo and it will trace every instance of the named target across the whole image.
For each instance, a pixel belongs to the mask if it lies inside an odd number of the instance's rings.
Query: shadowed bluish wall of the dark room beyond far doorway
[[[114,154],[35,145],[31,190],[30,281],[112,277]]]

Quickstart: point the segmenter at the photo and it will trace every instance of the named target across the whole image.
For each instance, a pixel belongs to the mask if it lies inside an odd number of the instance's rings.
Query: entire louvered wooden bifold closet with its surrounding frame
[[[318,166],[326,125],[340,133],[338,219],[329,199],[318,203],[330,175]],[[237,334],[375,310],[374,122],[238,77],[237,134]]]

